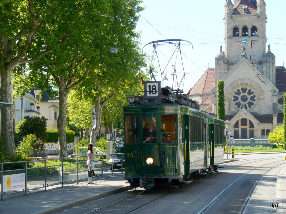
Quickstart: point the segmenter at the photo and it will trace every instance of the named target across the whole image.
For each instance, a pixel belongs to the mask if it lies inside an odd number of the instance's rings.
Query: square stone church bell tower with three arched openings
[[[225,55],[228,60],[263,60],[266,43],[264,0],[225,3]],[[229,69],[228,69],[229,70]]]

